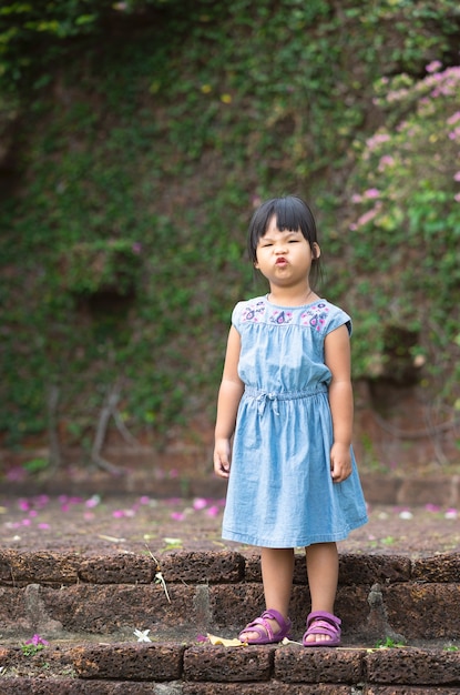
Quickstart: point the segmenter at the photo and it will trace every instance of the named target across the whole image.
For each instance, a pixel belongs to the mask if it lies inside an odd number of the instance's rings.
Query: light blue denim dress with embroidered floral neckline
[[[341,541],[367,522],[352,473],[330,476],[333,422],[327,333],[351,320],[326,300],[283,308],[266,296],[239,302],[232,323],[242,341],[245,391],[233,441],[223,538],[264,547]]]

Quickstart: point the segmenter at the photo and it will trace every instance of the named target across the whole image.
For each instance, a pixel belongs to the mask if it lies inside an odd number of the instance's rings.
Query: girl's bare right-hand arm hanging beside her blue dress
[[[341,483],[351,474],[350,446],[354,417],[350,340],[346,325],[326,335],[325,363],[333,374],[329,384],[329,405],[334,429],[330,473],[335,483]]]

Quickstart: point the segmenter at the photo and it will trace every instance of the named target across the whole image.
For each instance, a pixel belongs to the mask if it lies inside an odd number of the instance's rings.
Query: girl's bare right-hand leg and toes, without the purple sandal
[[[326,611],[334,615],[338,583],[338,551],[336,543],[315,543],[305,548],[307,575],[311,595],[311,613]],[[309,635],[307,642],[327,642],[328,635]]]

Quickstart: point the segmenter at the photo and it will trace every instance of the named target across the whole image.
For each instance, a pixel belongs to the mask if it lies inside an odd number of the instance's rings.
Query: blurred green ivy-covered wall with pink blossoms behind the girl
[[[460,381],[457,0],[0,8],[0,431],[212,422],[254,205],[297,193],[354,376]]]

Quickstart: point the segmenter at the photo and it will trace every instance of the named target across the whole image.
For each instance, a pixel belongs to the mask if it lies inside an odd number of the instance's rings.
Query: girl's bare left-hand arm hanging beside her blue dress
[[[232,326],[228,333],[224,373],[217,399],[217,419],[214,445],[214,472],[228,477],[231,467],[231,439],[235,430],[236,413],[242,400],[244,384],[238,376],[241,339]]]

